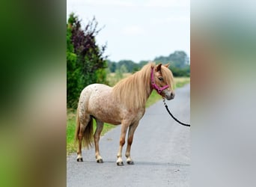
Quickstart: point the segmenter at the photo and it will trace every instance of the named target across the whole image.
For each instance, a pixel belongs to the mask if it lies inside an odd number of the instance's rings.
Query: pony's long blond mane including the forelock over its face
[[[132,110],[145,107],[147,98],[152,92],[150,85],[151,67],[155,66],[154,63],[148,63],[132,76],[122,79],[113,87],[112,94],[119,102],[124,103],[127,108]],[[168,68],[162,67],[162,76],[168,80],[167,82],[171,86],[173,76],[170,73]]]

